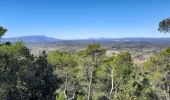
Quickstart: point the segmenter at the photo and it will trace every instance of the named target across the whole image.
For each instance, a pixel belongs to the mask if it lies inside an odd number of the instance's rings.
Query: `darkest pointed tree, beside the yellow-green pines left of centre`
[[[55,91],[61,80],[54,74],[54,68],[48,64],[45,52],[40,55],[30,69],[31,80],[27,79],[31,100],[54,100]]]

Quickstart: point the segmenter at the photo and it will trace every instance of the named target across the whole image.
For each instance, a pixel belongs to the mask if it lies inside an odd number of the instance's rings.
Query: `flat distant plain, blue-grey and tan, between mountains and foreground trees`
[[[92,43],[100,43],[107,49],[106,55],[114,55],[120,51],[128,51],[132,54],[134,63],[141,64],[150,56],[157,54],[161,49],[170,46],[170,39],[133,39],[133,40],[63,40],[56,42],[26,42],[31,53],[38,55],[42,50],[47,52],[54,50],[78,51]]]

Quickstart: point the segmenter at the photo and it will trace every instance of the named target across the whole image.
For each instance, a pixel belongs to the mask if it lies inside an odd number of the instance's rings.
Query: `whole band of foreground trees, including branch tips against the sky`
[[[159,30],[167,29],[169,24],[164,21]],[[0,37],[6,31],[0,27]],[[90,44],[75,53],[43,51],[34,56],[20,42],[1,44],[0,99],[170,99],[170,47],[148,59],[142,67],[133,63],[128,52],[108,57],[105,51],[100,44]]]

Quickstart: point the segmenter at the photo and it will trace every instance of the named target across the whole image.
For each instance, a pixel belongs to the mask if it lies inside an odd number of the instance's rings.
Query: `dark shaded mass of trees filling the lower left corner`
[[[22,43],[0,46],[0,99],[53,100],[60,83],[46,55],[34,57]]]

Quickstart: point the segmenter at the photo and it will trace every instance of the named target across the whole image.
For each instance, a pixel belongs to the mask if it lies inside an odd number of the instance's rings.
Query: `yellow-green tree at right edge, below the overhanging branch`
[[[150,75],[151,85],[157,95],[170,100],[170,47],[151,57],[144,68]]]

